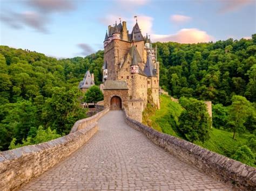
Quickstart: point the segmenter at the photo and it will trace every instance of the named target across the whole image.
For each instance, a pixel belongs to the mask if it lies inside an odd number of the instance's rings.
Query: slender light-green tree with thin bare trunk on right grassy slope
[[[251,104],[242,96],[233,96],[232,104],[228,107],[228,125],[227,128],[233,131],[233,139],[235,139],[235,133],[244,132],[246,118],[250,114]]]

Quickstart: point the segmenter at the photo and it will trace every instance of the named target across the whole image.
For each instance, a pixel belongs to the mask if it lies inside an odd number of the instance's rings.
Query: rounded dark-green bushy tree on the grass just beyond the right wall
[[[194,98],[180,98],[181,105],[185,108],[179,116],[179,130],[190,142],[210,138],[211,119],[208,115],[206,105]]]

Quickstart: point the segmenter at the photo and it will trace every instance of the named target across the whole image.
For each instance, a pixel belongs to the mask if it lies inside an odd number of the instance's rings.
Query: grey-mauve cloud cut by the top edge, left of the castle
[[[71,0],[29,0],[26,4],[42,12],[66,12],[75,9]]]

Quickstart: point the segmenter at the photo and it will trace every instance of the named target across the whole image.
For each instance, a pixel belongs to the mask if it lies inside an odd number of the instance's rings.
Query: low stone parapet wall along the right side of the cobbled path
[[[142,132],[156,145],[165,148],[182,161],[187,162],[215,179],[232,183],[243,190],[255,190],[256,168],[214,153],[186,140],[160,133],[125,114],[125,121],[133,129]]]

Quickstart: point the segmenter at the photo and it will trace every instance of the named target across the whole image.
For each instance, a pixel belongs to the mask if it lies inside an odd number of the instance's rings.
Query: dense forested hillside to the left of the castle
[[[38,126],[69,133],[73,123],[85,117],[79,107],[79,81],[87,69],[102,81],[103,51],[57,60],[27,49],[0,46],[0,150],[12,139],[26,144]],[[14,142],[12,142],[14,143]]]

